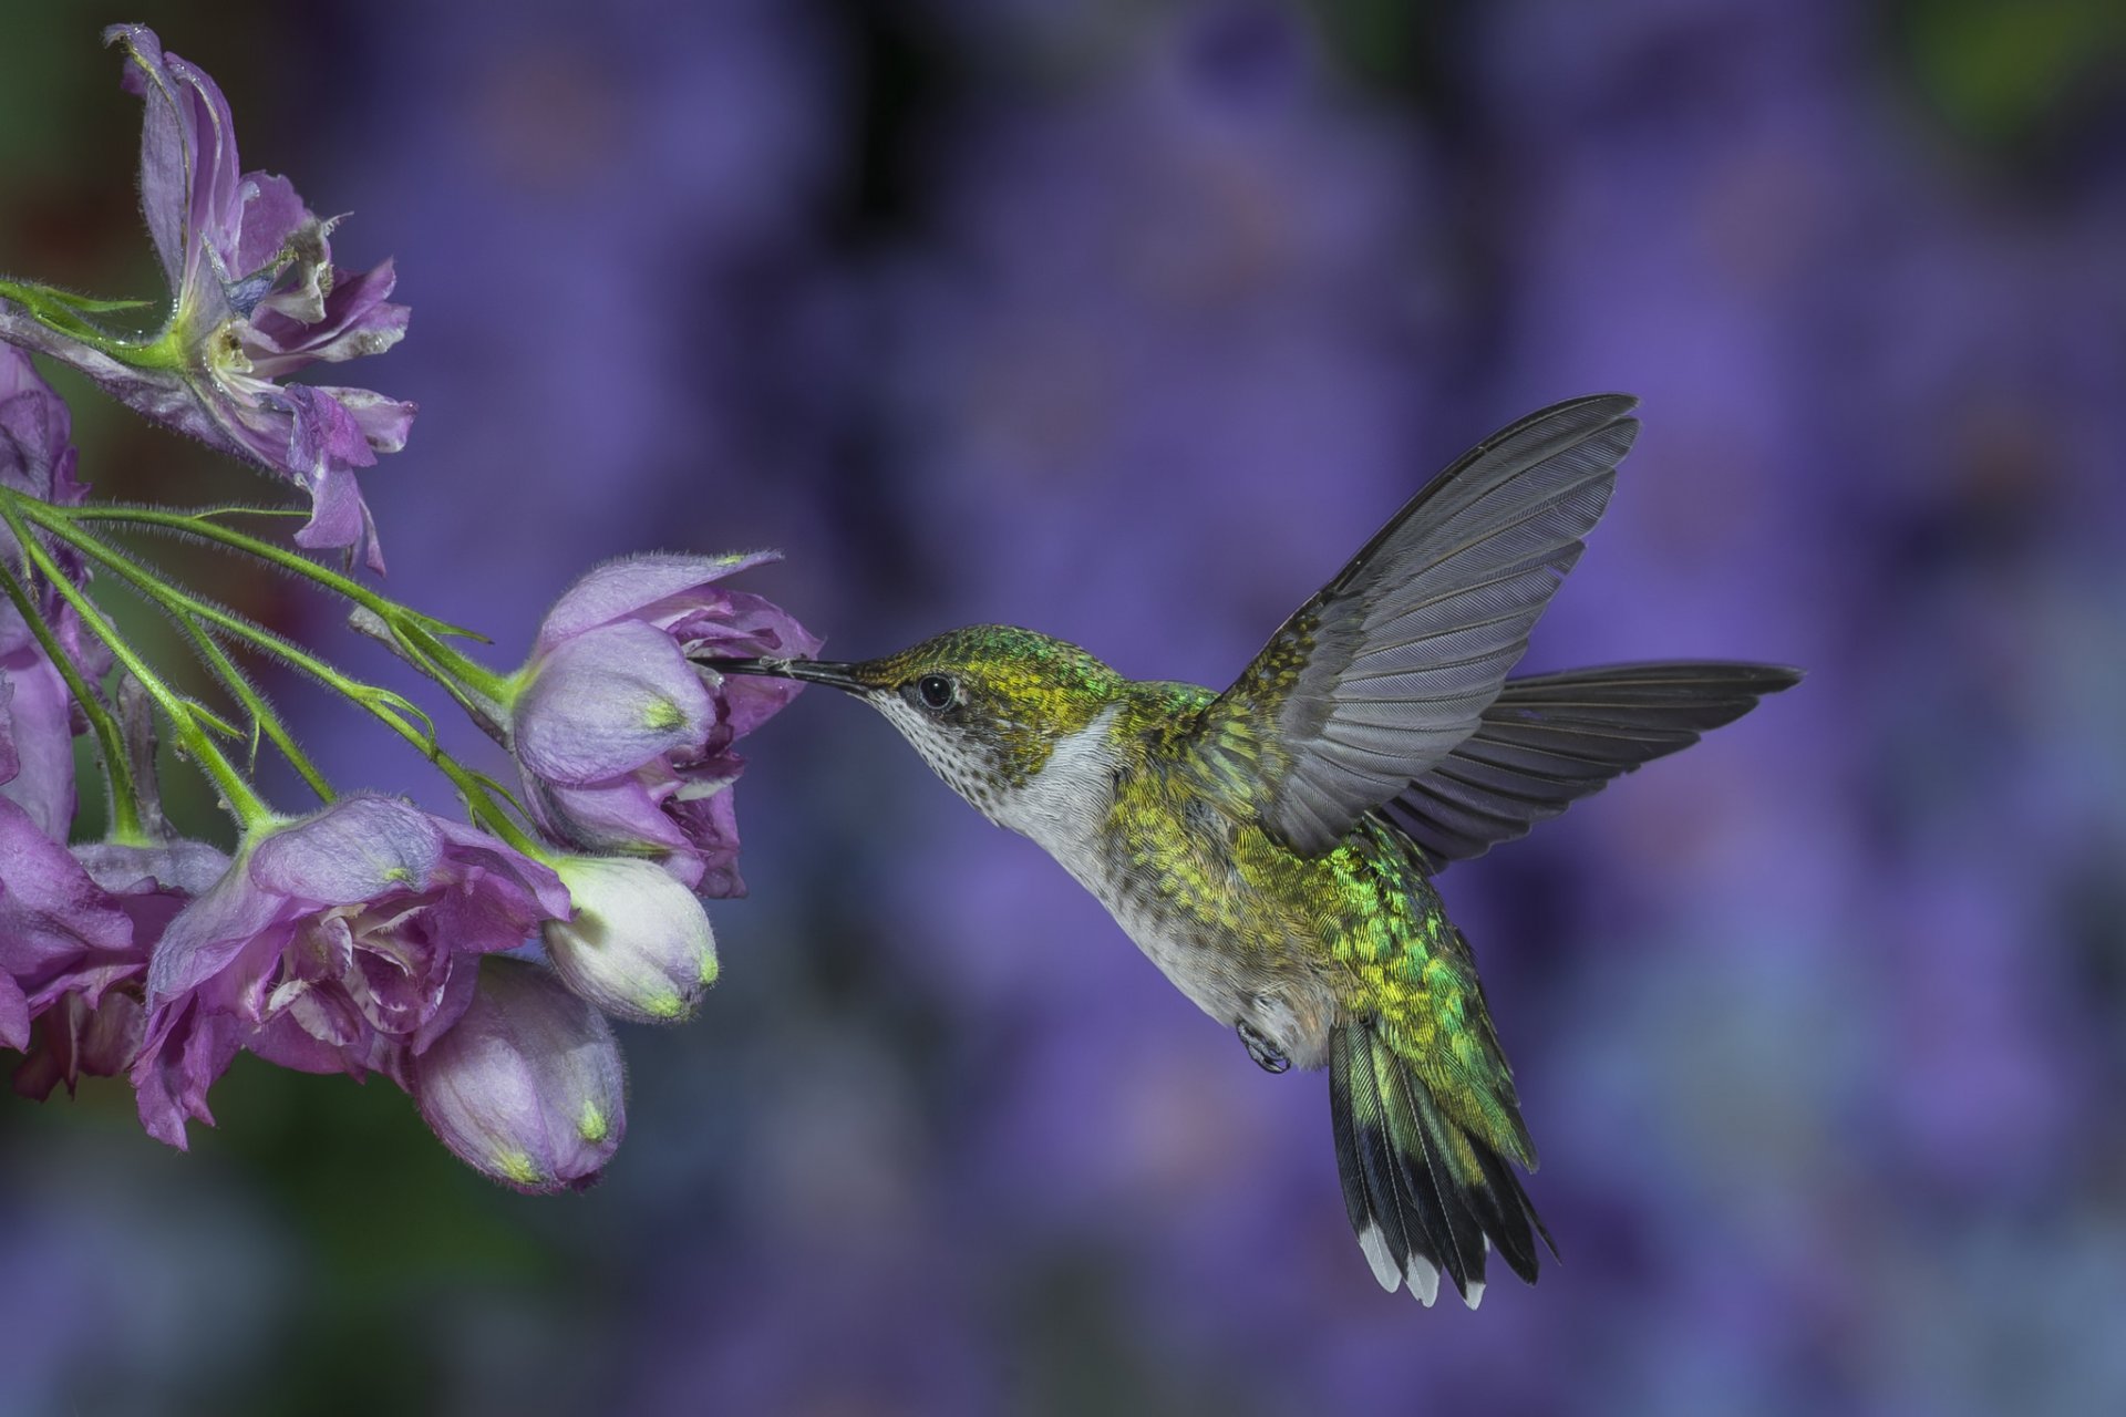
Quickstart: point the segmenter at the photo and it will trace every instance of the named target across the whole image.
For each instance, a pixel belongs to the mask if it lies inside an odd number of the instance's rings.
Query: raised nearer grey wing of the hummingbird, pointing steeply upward
[[[1318,854],[1478,727],[1580,559],[1637,399],[1554,404],[1427,484],[1197,724],[1197,763]]]

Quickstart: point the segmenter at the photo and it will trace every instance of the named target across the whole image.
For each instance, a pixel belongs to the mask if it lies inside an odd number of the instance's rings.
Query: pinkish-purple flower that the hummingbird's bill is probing
[[[661,854],[702,894],[742,894],[731,744],[789,703],[797,684],[723,682],[689,654],[819,650],[782,610],[716,586],[774,552],[634,557],[570,586],[517,676],[510,748],[532,812],[589,852]]]

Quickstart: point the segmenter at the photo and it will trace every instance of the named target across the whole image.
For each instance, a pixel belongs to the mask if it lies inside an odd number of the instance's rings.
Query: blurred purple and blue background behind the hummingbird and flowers
[[[108,19],[398,257],[389,584],[500,661],[602,557],[774,544],[831,652],[1222,684],[1463,446],[1626,389],[1529,665],[1809,680],[1448,873],[1565,1253],[1475,1315],[1373,1285],[1320,1075],[810,695],[593,1192],[251,1058],[189,1156],[123,1086],[0,1105],[0,1413],[2126,1411],[2126,11],[9,4],[0,268],[145,295]],[[62,382],[102,491],[266,491]]]

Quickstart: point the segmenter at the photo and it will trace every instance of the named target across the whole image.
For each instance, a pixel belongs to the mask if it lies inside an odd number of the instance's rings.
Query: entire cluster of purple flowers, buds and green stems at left
[[[281,474],[310,497],[296,544],[378,571],[353,470],[398,450],[412,419],[364,389],[279,382],[400,340],[391,263],[338,270],[334,221],[285,178],[240,174],[206,74],[140,25],[106,40],[147,104],[140,193],[172,304],[159,334],[128,340],[89,319],[111,302],[0,280],[0,1047],[23,1054],[15,1088],[45,1098],[81,1075],[125,1075],[142,1126],[185,1147],[189,1122],[213,1122],[215,1081],[251,1052],[389,1079],[508,1185],[585,1185],[627,1128],[606,1020],[689,1018],[716,979],[702,897],[744,890],[733,744],[797,690],[725,682],[695,661],[819,642],[723,584],[772,552],[640,557],[583,576],[525,665],[495,673],[451,646],[461,631],[219,512],[91,503],[66,404],[26,351]],[[168,580],[106,525],[187,533],[351,601],[359,627],[510,750],[523,805],[444,752],[406,699]],[[102,614],[91,578],[106,576],[189,635],[251,739],[315,788],[315,809],[259,797],[223,750],[242,729],[176,693]],[[470,820],[336,792],[232,650],[372,712],[451,778]],[[232,850],[166,824],[157,724],[236,818]],[[111,831],[70,843],[81,735],[102,763]]]

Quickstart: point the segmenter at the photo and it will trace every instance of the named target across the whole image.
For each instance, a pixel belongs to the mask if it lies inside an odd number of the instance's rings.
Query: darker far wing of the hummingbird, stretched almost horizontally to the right
[[[1799,682],[1799,669],[1731,663],[1507,680],[1475,731],[1388,801],[1386,816],[1437,871],[1526,835],[1612,778],[1688,748]]]

